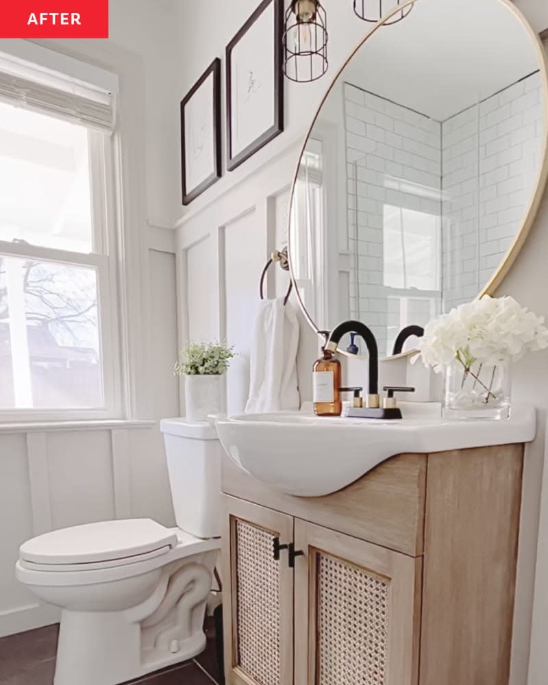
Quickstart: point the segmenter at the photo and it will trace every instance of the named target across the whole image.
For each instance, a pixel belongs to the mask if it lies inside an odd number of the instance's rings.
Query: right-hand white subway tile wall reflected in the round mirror
[[[540,164],[540,90],[536,73],[442,124],[446,310],[486,285],[523,221]]]

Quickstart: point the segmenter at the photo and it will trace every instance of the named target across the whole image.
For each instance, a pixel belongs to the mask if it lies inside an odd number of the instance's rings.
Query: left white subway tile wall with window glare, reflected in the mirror
[[[353,310],[390,354],[408,325],[408,295],[423,291],[412,299],[424,301],[415,307],[416,325],[440,310],[441,126],[355,84],[345,84],[344,97],[347,157],[358,158],[349,177],[349,202],[358,210]]]

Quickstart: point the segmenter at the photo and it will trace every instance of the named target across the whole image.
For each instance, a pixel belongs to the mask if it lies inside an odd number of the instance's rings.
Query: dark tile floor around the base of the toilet
[[[0,638],[0,685],[52,685],[58,632],[58,625],[49,625]],[[208,646],[197,659],[132,680],[132,685],[222,685],[216,680],[215,628],[210,619],[206,634]]]

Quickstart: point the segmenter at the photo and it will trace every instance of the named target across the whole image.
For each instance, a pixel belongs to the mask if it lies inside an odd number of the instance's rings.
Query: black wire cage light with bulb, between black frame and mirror
[[[327,15],[320,0],[292,0],[284,29],[284,73],[297,83],[321,78],[327,61]]]

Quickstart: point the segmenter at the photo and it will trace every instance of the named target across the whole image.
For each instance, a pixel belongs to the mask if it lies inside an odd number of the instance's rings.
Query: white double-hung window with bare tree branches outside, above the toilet
[[[0,420],[116,416],[112,138],[36,88],[0,102]]]

